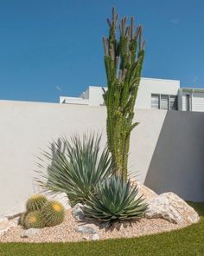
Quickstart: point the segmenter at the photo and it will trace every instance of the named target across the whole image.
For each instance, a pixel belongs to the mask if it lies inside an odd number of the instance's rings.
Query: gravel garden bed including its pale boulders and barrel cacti
[[[157,195],[139,182],[137,188],[138,196],[143,194],[148,205],[143,218],[139,220],[89,219],[84,211],[85,205],[78,203],[71,208],[66,194],[61,194],[64,195],[61,201],[64,206],[59,201],[35,194],[27,200],[26,212],[8,221],[10,227],[0,233],[0,242],[43,243],[132,238],[181,229],[199,221],[194,208],[176,194]]]

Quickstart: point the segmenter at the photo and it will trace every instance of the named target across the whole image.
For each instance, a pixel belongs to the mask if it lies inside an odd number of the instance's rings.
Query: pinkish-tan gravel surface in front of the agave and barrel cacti
[[[90,227],[88,233],[80,233],[80,227]],[[99,224],[99,222],[75,220],[72,209],[67,210],[63,223],[58,226],[44,227],[37,230],[37,233],[30,234],[29,237],[22,237],[26,231],[22,226],[16,225],[5,233],[0,239],[1,242],[71,242],[82,240],[107,240],[116,238],[131,238],[153,233],[163,233],[186,226],[184,224],[170,223],[163,219],[141,219],[137,221],[124,221],[110,227]],[[87,228],[86,228],[87,229]],[[83,230],[82,230],[83,232]],[[97,234],[97,236],[96,236]],[[94,239],[95,238],[95,239]]]

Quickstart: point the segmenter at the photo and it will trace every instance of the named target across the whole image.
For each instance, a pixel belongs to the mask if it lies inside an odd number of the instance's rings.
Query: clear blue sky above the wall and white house
[[[58,102],[105,85],[102,36],[115,6],[143,24],[143,76],[204,87],[203,0],[0,1],[0,99]]]

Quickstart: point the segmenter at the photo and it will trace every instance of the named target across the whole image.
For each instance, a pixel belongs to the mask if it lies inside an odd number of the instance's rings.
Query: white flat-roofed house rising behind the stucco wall
[[[79,97],[61,96],[60,103],[103,106],[103,89],[89,86]],[[204,112],[204,89],[180,88],[178,80],[143,77],[137,93],[136,108]]]

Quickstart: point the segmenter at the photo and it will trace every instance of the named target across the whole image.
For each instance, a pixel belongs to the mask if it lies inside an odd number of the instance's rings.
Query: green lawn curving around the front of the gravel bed
[[[204,255],[204,203],[189,203],[201,221],[182,230],[136,239],[66,244],[1,244],[0,256]]]

